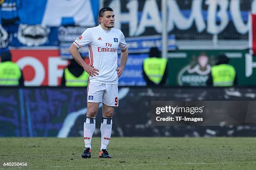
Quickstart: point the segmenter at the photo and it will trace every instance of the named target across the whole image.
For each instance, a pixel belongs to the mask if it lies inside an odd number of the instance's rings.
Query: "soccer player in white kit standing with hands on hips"
[[[95,130],[95,118],[102,102],[102,120],[100,126],[100,158],[111,158],[107,151],[112,132],[114,108],[118,106],[118,77],[123,74],[128,58],[128,48],[123,32],[113,28],[115,15],[110,7],[99,12],[100,25],[87,28],[69,47],[74,59],[89,74],[87,87],[87,115],[84,120],[84,153],[82,158],[91,157],[91,141]],[[78,49],[89,46],[90,65],[79,55]],[[121,50],[118,67],[118,47]]]

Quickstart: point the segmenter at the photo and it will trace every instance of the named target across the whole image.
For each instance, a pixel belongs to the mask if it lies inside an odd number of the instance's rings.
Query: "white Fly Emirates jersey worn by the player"
[[[90,65],[100,70],[99,75],[89,77],[90,82],[104,84],[118,84],[118,47],[125,50],[127,47],[125,37],[121,30],[111,28],[103,30],[100,25],[87,28],[82,35],[75,40],[78,48],[88,45]]]

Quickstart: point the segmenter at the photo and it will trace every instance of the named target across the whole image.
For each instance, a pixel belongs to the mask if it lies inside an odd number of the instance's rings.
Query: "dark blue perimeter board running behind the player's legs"
[[[255,136],[255,126],[152,126],[151,101],[255,100],[255,87],[120,87],[113,136]],[[0,137],[83,135],[84,87],[1,87]],[[100,105],[95,136],[100,136]]]

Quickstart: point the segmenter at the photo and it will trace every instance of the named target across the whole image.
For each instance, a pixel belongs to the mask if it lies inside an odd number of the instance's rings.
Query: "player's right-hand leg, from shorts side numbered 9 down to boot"
[[[112,132],[112,117],[114,108],[115,106],[118,106],[118,85],[106,84],[106,91],[103,94],[102,102],[100,158],[111,158],[111,156],[108,154],[107,146],[110,142]]]

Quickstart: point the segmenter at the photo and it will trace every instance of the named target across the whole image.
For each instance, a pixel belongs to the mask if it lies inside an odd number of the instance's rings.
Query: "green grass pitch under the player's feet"
[[[83,138],[0,138],[0,169],[4,162],[54,170],[256,169],[256,138],[111,138],[112,159],[98,158],[95,137],[92,158],[82,159],[83,143]]]

